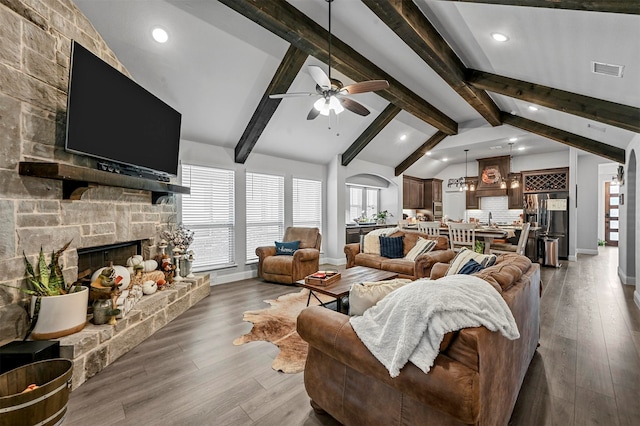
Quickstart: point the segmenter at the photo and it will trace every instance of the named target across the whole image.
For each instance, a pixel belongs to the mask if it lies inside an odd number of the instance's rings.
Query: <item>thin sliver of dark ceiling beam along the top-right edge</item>
[[[487,3],[506,6],[544,7],[550,9],[582,10],[590,12],[624,13],[628,15],[640,14],[638,0],[610,0],[610,1],[577,1],[577,0],[449,0],[463,3]]]

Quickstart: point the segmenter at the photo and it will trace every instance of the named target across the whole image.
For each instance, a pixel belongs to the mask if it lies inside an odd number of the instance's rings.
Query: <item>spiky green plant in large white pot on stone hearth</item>
[[[87,322],[89,289],[81,285],[66,285],[60,267],[60,255],[71,241],[51,254],[47,264],[40,248],[38,263],[32,265],[23,253],[28,288],[21,288],[31,295],[31,324],[25,339],[55,339],[82,330]]]

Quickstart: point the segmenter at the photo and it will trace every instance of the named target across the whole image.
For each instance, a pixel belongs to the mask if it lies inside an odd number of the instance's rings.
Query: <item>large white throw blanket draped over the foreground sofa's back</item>
[[[483,325],[511,340],[520,337],[502,296],[471,275],[414,281],[349,321],[391,377],[400,374],[407,361],[428,373],[450,331]]]

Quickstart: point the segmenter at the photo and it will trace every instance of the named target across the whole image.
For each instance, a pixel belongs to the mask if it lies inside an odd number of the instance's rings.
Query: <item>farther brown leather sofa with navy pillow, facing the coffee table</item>
[[[389,259],[377,254],[361,252],[360,243],[344,246],[347,255],[347,268],[354,266],[368,266],[383,271],[397,272],[398,278],[418,279],[429,277],[431,267],[438,262],[449,262],[455,257],[455,252],[449,248],[447,237],[433,237],[422,232],[402,230],[389,235],[390,237],[404,237],[403,251],[407,253],[416,245],[418,237],[437,241],[435,248],[429,253],[421,254],[415,261],[407,259]]]

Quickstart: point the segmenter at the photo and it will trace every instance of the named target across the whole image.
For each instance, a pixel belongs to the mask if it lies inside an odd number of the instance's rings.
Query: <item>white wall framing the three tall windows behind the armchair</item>
[[[235,261],[236,266],[211,271],[211,283],[236,281],[256,276],[257,265],[246,263],[246,204],[245,204],[245,173],[247,171],[284,176],[285,179],[285,227],[292,221],[292,179],[314,179],[324,183],[323,191],[325,216],[327,208],[327,167],[319,164],[303,163],[300,161],[286,160],[261,154],[251,154],[245,164],[234,162],[234,150],[220,146],[207,145],[198,142],[182,140],[180,143],[180,161],[199,166],[217,167],[235,171]],[[325,245],[325,229],[327,219],[323,218],[323,246]],[[344,228],[343,228],[344,229]],[[343,232],[344,234],[344,232]],[[323,249],[324,250],[324,249]]]

